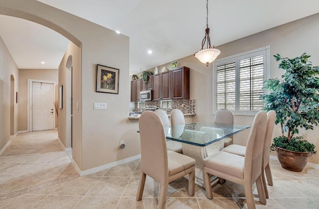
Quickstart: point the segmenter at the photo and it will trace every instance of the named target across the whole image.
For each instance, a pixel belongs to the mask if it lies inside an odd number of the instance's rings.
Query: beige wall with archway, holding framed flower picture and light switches
[[[3,1],[0,14],[45,25],[81,49],[81,60],[75,60],[79,69],[73,73],[72,103],[73,159],[78,167],[83,171],[140,154],[137,122],[128,119],[129,37],[36,0]],[[120,69],[119,94],[95,92],[96,64]],[[108,109],[93,110],[93,102],[107,102]],[[63,125],[66,121],[59,123]],[[127,145],[124,150],[120,140]]]

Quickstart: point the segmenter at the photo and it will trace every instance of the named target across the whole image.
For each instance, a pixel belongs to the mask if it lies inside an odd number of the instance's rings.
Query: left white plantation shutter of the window
[[[217,65],[216,70],[217,110],[236,109],[236,63]]]

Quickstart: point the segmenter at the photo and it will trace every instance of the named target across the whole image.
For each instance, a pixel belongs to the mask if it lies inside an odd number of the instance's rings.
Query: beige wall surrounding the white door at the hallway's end
[[[19,114],[18,114],[18,130],[19,131],[27,130],[28,79],[52,81],[52,82],[55,82],[55,85],[57,85],[58,70],[57,69],[19,69]],[[57,125],[58,125],[58,120],[57,120],[57,117],[55,117],[55,127],[57,127]]]

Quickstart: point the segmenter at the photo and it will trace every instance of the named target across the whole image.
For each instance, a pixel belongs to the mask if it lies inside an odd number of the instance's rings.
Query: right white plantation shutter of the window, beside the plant
[[[239,61],[239,110],[259,111],[263,102],[264,56],[254,56]]]

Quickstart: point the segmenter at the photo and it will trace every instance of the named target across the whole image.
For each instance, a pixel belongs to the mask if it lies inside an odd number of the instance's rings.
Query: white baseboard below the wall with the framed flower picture
[[[76,165],[76,163],[74,162],[73,159],[72,159],[72,165],[75,167],[75,170],[78,172],[78,174],[80,176],[85,176],[85,175],[93,174],[93,173],[96,173],[96,172],[99,172],[99,171],[103,171],[105,169],[108,169],[108,168],[111,168],[111,167],[114,167],[114,166],[122,165],[122,164],[125,164],[125,163],[128,163],[128,162],[140,159],[140,158],[141,158],[141,155],[136,155],[136,156],[133,156],[133,157],[130,157],[130,158],[126,158],[126,159],[123,159],[123,160],[120,160],[120,161],[116,161],[116,162],[113,162],[113,163],[105,164],[105,165],[102,165],[102,166],[99,166],[99,167],[95,167],[95,168],[92,168],[92,169],[88,169],[88,170],[85,170],[85,171],[81,171],[79,169],[79,167]]]

